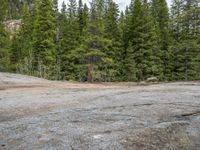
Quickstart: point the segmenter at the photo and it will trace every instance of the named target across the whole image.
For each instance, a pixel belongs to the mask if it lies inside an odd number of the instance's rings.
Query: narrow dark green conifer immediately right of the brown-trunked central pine
[[[107,55],[111,56],[113,60],[112,72],[113,81],[119,80],[120,77],[120,65],[121,65],[121,39],[120,31],[118,27],[119,21],[119,9],[118,5],[113,0],[108,0],[105,3],[105,15],[104,15],[104,35],[105,38],[112,41],[112,45],[107,51]]]

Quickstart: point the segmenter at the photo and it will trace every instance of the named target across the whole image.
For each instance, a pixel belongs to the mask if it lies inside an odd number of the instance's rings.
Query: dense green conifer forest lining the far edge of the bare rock
[[[88,82],[200,80],[200,2],[0,0],[0,71]],[[10,33],[5,22],[21,19]]]

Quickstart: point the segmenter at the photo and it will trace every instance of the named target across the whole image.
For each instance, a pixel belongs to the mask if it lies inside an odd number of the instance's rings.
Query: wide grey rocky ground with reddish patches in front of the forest
[[[80,84],[0,73],[0,149],[200,150],[200,82]]]

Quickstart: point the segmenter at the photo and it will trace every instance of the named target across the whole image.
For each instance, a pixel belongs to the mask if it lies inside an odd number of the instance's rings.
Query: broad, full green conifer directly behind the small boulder
[[[134,61],[138,68],[137,78],[138,80],[145,80],[151,76],[162,78],[161,52],[148,3],[135,0],[131,13],[130,42],[134,50]]]

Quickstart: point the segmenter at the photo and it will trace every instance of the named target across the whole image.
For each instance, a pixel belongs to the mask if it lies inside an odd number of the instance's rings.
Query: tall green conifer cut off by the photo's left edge
[[[0,4],[0,71],[8,71],[10,68],[9,36],[3,23],[7,3],[5,0],[0,0]]]

